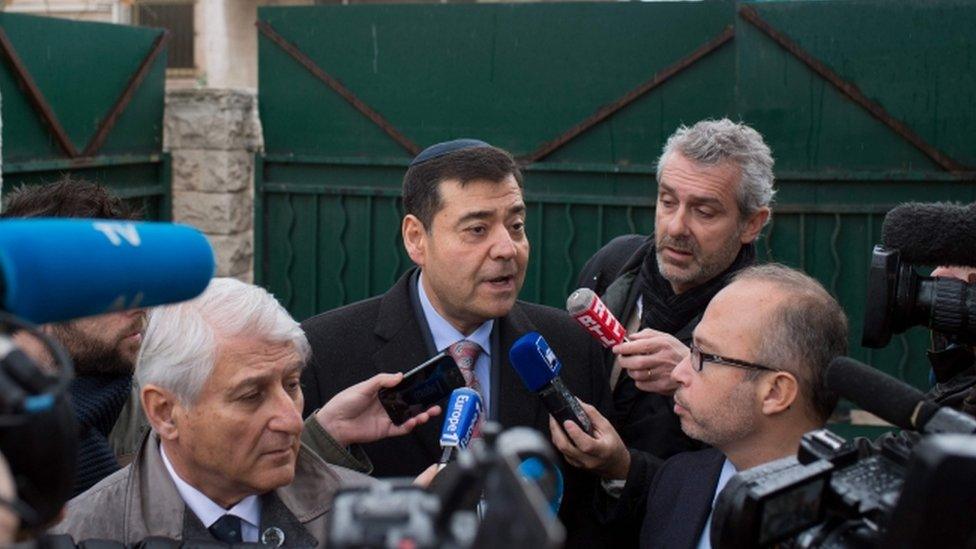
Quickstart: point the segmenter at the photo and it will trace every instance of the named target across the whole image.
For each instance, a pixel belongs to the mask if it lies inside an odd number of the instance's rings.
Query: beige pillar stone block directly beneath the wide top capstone
[[[237,192],[253,181],[252,152],[178,149],[172,158],[174,191]]]

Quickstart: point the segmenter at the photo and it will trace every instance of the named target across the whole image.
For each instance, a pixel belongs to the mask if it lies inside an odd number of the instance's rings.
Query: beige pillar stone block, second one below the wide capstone
[[[173,192],[173,220],[208,234],[233,234],[251,229],[250,193]]]

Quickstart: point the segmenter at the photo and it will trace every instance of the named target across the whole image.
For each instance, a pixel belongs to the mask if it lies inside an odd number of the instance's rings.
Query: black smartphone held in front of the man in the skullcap
[[[457,363],[447,353],[440,353],[404,374],[396,386],[380,389],[380,404],[394,425],[402,425],[464,385]]]

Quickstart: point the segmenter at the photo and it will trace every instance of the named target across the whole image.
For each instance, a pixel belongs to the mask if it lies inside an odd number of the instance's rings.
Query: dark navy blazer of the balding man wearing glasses
[[[678,454],[654,474],[640,546],[689,549],[698,544],[712,512],[712,500],[725,455],[708,448]]]

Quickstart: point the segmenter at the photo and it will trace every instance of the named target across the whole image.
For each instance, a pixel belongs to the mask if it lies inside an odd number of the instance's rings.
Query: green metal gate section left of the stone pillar
[[[170,218],[163,30],[0,14],[3,190],[75,174]]]

